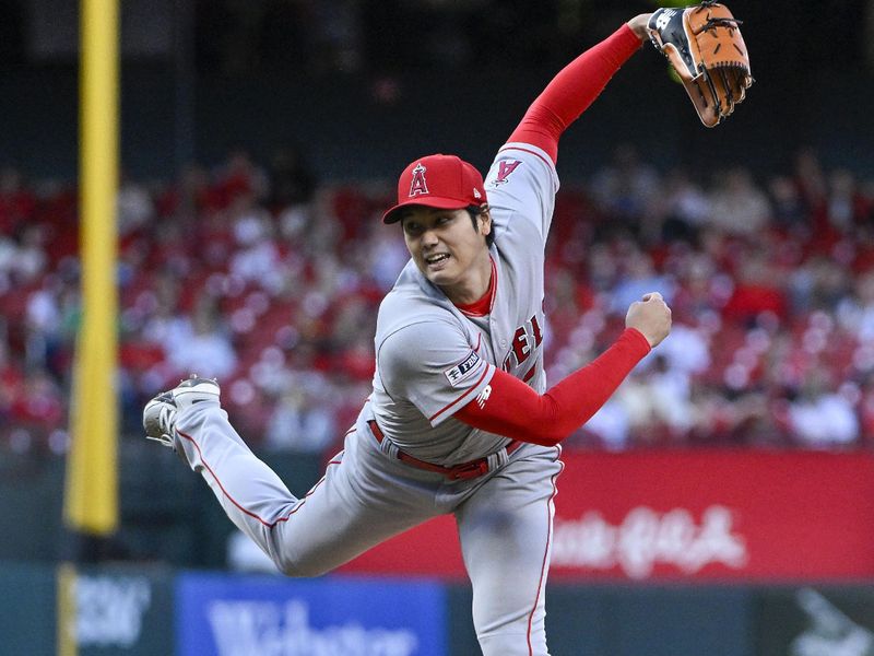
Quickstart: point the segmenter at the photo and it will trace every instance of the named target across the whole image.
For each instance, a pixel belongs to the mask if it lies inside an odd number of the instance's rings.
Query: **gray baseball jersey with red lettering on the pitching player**
[[[485,456],[507,442],[452,419],[483,394],[495,368],[545,390],[543,262],[558,178],[545,153],[510,143],[485,187],[497,276],[491,313],[465,316],[411,260],[377,319],[374,417],[399,448],[441,465]]]

